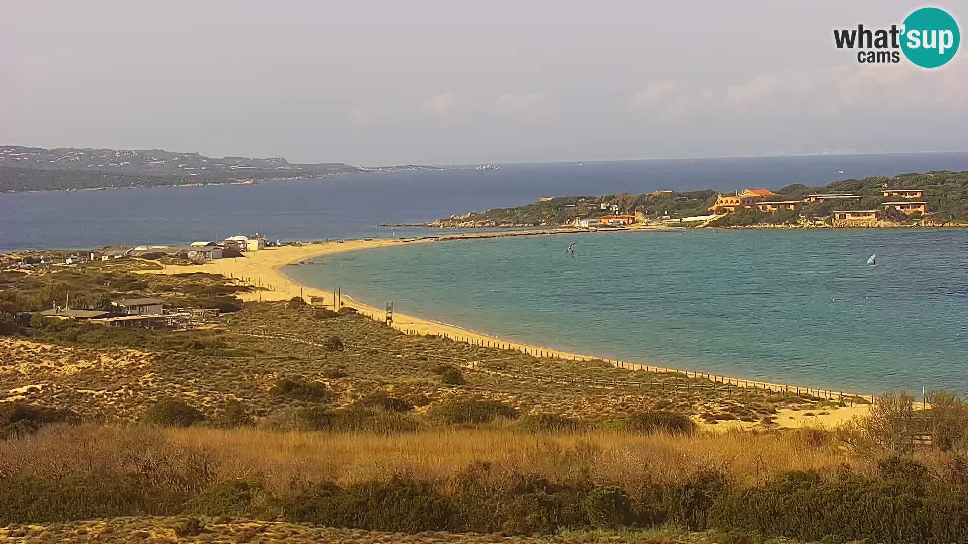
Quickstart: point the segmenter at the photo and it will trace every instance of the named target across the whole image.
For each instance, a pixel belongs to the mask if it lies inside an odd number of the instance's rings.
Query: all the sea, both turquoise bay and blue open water
[[[823,185],[968,153],[454,166],[255,185],[0,195],[0,252],[433,235],[543,196]],[[834,173],[843,171],[843,174]],[[447,229],[446,232],[456,232]],[[564,254],[577,242],[575,257]],[[865,261],[876,254],[877,266]],[[865,394],[968,394],[968,231],[674,230],[452,241],[287,268],[403,314],[593,355]]]

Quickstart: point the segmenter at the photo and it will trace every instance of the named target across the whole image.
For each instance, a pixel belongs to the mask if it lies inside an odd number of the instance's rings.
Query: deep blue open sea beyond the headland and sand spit
[[[940,169],[968,170],[968,153],[503,165],[250,186],[0,195],[0,252],[179,244],[253,231],[284,240],[388,237],[388,229],[376,226],[516,206],[540,196],[778,189]],[[845,173],[832,173],[837,170]],[[413,233],[430,232],[397,234]]]

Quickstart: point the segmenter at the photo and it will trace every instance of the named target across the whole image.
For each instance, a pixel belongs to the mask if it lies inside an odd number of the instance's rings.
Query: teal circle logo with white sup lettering
[[[909,61],[922,68],[948,64],[961,43],[958,23],[939,8],[922,8],[904,19],[901,50]]]

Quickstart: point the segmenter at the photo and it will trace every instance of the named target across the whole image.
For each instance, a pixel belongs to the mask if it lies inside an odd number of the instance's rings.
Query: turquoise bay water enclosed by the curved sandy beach
[[[861,393],[968,393],[963,229],[523,236],[311,262],[286,272],[542,346]]]

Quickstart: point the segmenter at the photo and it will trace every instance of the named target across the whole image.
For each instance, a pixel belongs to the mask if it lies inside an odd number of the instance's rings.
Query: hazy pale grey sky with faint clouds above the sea
[[[968,51],[924,70],[833,45],[922,6],[4,0],[0,144],[357,166],[968,150]]]

